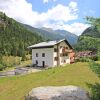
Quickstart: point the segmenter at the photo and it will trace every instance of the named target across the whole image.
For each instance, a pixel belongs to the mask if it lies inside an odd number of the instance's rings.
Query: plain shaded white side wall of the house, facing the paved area
[[[39,48],[39,49],[32,49],[32,63],[36,64],[38,61],[37,66],[43,66],[43,61],[45,62],[46,66],[52,67],[53,64],[53,48]],[[36,57],[36,53],[38,57]],[[45,57],[42,57],[42,54],[45,53]]]

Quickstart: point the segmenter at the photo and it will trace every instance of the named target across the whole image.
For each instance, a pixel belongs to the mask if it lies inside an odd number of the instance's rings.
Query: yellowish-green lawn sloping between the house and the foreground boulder
[[[23,76],[0,78],[0,100],[23,100],[33,87],[77,85],[88,91],[87,83],[100,83],[88,63],[75,63]]]

